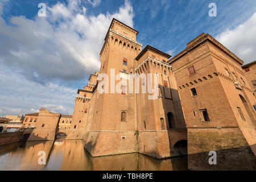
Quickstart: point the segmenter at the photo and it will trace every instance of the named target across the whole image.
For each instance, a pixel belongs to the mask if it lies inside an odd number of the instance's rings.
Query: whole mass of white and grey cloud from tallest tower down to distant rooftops
[[[82,83],[98,71],[110,22],[117,18],[133,27],[133,17],[127,0],[113,14],[87,15],[80,0],[69,0],[47,7],[46,18],[11,16],[6,23],[0,16],[0,115],[35,113],[41,107],[73,114],[78,88],[63,85]]]

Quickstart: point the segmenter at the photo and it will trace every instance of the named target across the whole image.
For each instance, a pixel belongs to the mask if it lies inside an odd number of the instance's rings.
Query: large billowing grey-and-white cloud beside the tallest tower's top
[[[40,83],[81,80],[100,68],[99,53],[112,18],[133,27],[133,16],[129,1],[113,14],[94,16],[86,15],[80,0],[69,0],[47,7],[47,17],[12,16],[8,24],[0,17],[0,61]]]

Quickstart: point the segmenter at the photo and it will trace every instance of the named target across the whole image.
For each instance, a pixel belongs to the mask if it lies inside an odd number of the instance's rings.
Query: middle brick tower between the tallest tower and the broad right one
[[[142,78],[141,92],[137,93],[138,151],[158,159],[187,154],[187,129],[174,74],[171,65],[167,64],[170,57],[146,46],[134,63],[135,72]],[[155,82],[156,73],[158,82]],[[148,82],[149,74],[152,74],[152,86]],[[155,89],[158,84],[155,98],[149,92],[142,92],[146,84],[147,90]]]

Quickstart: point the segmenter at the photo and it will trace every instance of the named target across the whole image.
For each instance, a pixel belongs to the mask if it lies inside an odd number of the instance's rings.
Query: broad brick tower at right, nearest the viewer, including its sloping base
[[[255,97],[243,61],[203,33],[169,63],[188,128],[189,169],[255,169]]]

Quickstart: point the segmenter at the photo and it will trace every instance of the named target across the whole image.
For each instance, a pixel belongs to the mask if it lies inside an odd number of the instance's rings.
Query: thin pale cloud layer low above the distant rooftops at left
[[[36,113],[42,107],[55,113],[73,114],[77,89],[29,81],[16,69],[2,64],[0,78],[0,115]]]

